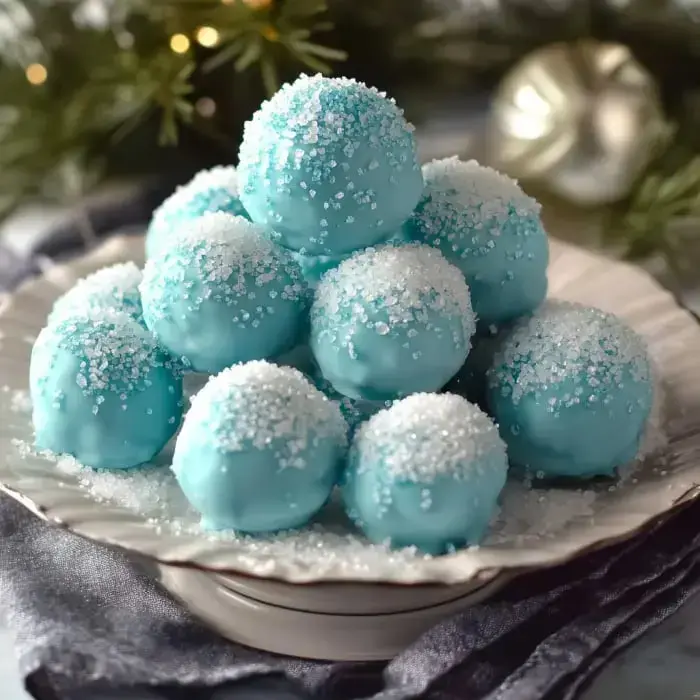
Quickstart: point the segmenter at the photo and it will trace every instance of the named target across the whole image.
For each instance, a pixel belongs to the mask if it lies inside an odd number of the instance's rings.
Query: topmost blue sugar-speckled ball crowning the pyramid
[[[384,93],[301,76],[246,124],[241,201],[288,248],[337,257],[386,240],[423,191],[413,127]]]

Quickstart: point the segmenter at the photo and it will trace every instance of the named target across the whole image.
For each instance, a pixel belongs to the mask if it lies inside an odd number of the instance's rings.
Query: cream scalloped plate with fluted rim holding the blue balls
[[[141,239],[115,238],[25,284],[4,306],[0,301],[0,487],[41,517],[80,535],[164,565],[218,571],[222,581],[228,576],[238,585],[241,575],[248,575],[290,583],[477,588],[499,574],[550,566],[629,537],[700,494],[700,326],[641,270],[553,242],[550,295],[621,316],[646,338],[663,384],[667,444],[617,487],[527,493],[515,488],[504,505],[505,525],[486,545],[434,558],[389,553],[343,534],[329,539],[325,531],[272,542],[210,539],[188,528],[155,526],[118,500],[97,502],[81,486],[80,474],[22,453],[18,445],[29,443],[32,431],[26,411],[14,405],[16,392],[27,388],[31,344],[56,297],[86,273],[142,257]],[[538,519],[549,523],[541,532]]]

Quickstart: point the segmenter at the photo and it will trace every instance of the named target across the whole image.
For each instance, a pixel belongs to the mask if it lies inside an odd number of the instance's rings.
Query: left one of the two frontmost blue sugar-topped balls
[[[346,433],[338,407],[301,372],[248,362],[194,397],[172,468],[206,529],[301,527],[337,483]]]

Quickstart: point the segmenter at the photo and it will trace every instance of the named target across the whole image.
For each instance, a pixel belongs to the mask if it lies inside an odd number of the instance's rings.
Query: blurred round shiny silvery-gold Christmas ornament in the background
[[[559,43],[526,56],[493,102],[494,160],[576,204],[617,201],[668,133],[653,78],[620,44]]]

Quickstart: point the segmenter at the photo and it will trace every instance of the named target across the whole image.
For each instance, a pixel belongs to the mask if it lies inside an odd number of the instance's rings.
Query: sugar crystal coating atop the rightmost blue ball
[[[496,353],[491,384],[511,391],[517,403],[529,393],[562,382],[576,388],[557,404],[601,400],[625,381],[650,382],[644,341],[616,316],[580,304],[547,301],[518,321]]]

